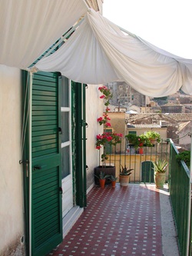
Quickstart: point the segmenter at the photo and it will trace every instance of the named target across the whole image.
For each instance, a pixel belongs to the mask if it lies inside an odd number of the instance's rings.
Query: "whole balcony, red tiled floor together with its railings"
[[[111,148],[108,165],[116,166],[116,175],[124,163],[136,170],[131,184],[128,188],[118,184],[115,189],[94,186],[88,193],[88,208],[48,255],[178,255],[175,241],[169,237],[175,224],[180,256],[192,256],[190,171],[176,160],[177,153],[171,140],[144,148],[143,154],[127,151],[127,146],[124,150]],[[151,161],[158,158],[169,161],[164,189],[156,189],[152,177]],[[144,162],[147,164],[142,165]],[[172,228],[168,204],[174,216]]]

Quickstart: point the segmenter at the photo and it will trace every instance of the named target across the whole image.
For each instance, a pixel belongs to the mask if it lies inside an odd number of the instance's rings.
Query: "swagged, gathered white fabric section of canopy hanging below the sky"
[[[171,95],[182,87],[192,95],[192,60],[177,57],[132,35],[89,10],[83,24],[55,54],[42,59],[42,71],[86,84],[121,79],[144,95]]]

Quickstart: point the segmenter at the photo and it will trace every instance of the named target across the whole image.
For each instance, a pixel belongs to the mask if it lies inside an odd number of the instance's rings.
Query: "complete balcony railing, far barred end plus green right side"
[[[166,182],[170,192],[170,204],[177,230],[180,255],[192,256],[190,171],[184,161],[177,161],[178,151],[173,141],[161,140],[154,147],[144,147],[142,152],[133,147],[127,147],[126,141],[122,141],[121,145],[110,148],[110,151],[108,165],[114,164],[116,176],[119,175],[121,165],[134,169],[130,178],[131,183],[154,184],[152,161],[166,159],[169,162]]]

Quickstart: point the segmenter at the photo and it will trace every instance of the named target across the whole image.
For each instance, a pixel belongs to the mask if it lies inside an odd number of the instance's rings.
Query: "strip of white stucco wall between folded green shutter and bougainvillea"
[[[102,85],[88,85],[86,89],[86,158],[87,158],[87,185],[88,187],[94,182],[94,168],[99,165],[99,151],[95,148],[96,135],[102,133],[103,126],[98,124],[97,118],[103,115],[103,100],[98,87]]]

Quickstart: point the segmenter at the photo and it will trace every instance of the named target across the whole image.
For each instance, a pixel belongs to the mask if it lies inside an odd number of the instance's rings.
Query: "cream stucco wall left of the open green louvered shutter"
[[[21,71],[0,65],[0,254],[9,246],[17,246],[24,235],[22,166],[18,162],[21,89]]]

